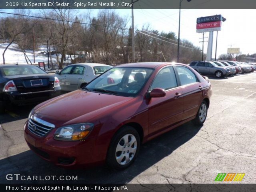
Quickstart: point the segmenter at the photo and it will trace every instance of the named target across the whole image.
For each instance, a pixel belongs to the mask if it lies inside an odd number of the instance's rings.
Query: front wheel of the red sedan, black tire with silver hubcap
[[[116,170],[123,170],[134,162],[139,150],[138,132],[132,126],[124,126],[113,136],[106,162]]]

